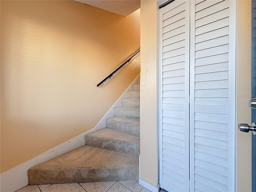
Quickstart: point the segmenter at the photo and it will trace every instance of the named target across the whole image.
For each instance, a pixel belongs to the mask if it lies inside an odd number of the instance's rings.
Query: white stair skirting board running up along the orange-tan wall
[[[39,155],[35,158],[24,162],[0,175],[0,187],[1,192],[14,192],[20,188],[28,185],[28,169],[36,166],[42,162],[46,162],[52,158],[60,156],[66,152],[74,150],[78,147],[84,146],[84,136],[96,130],[106,128],[106,119],[114,116],[114,108],[121,106],[122,99],[127,98],[127,92],[132,90],[132,85],[137,84],[136,81],[139,76],[136,77],[134,82],[126,89],[122,96],[117,100],[117,102],[112,106],[112,108],[107,112],[107,114],[100,120],[95,128],[85,132],[76,138],[69,140],[59,146]]]

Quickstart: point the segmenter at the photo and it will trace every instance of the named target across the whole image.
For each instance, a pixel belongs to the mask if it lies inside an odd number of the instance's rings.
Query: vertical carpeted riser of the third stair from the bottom
[[[107,127],[114,129],[114,130],[118,130],[118,131],[122,131],[125,133],[129,133],[132,135],[136,135],[136,136],[140,136],[140,126],[136,126],[136,125],[131,125],[131,124],[127,124],[127,123],[123,123],[123,122],[118,122],[118,121],[112,121],[107,119]]]

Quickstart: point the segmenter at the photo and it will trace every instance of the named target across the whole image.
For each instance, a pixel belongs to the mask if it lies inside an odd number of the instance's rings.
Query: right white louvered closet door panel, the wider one
[[[235,191],[234,2],[191,1],[190,189],[196,192]]]

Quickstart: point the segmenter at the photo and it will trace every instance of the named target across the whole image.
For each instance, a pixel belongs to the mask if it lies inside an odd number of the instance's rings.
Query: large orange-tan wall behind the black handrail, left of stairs
[[[138,76],[140,10],[75,1],[1,0],[1,172],[96,126]]]

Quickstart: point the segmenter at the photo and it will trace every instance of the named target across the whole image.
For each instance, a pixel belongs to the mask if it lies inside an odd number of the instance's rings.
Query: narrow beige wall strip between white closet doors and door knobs
[[[237,7],[237,94],[236,124],[251,124],[251,16],[252,2],[238,1]],[[237,128],[236,128],[237,129]],[[237,187],[238,192],[252,191],[251,133],[237,129]],[[246,161],[246,163],[244,163]]]

